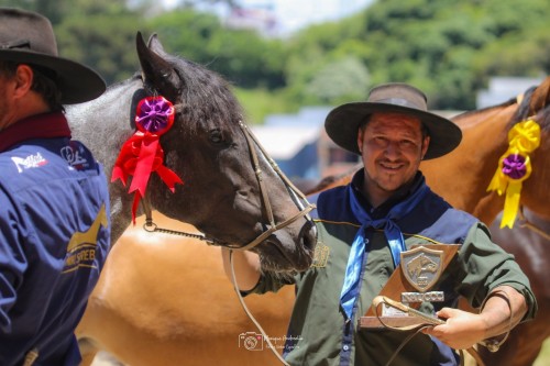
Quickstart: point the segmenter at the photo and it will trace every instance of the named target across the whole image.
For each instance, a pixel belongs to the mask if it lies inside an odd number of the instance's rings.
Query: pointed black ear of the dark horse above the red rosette
[[[160,52],[163,53],[162,45],[158,40],[156,40],[156,35],[151,37],[150,44],[154,48],[160,46]],[[175,73],[172,64],[164,59],[162,54],[156,53],[155,49],[145,45],[141,32],[138,32],[135,37],[135,46],[138,49],[138,57],[140,58],[143,81],[148,84],[168,100],[175,102],[177,90],[179,89],[178,86],[182,80]]]

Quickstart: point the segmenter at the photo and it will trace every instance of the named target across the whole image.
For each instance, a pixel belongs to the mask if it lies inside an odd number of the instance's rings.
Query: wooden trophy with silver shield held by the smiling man
[[[389,277],[376,300],[382,302],[382,311],[375,313],[376,304],[369,308],[359,319],[359,329],[382,330],[386,328],[415,326],[426,323],[426,319],[415,315],[421,302],[444,301],[442,291],[432,291],[451,259],[459,251],[459,244],[429,244],[414,246],[402,252],[400,264]],[[400,311],[399,307],[387,303],[403,303],[413,311]],[[378,308],[380,310],[380,308]],[[427,314],[427,317],[430,317]],[[426,317],[425,317],[426,318]]]

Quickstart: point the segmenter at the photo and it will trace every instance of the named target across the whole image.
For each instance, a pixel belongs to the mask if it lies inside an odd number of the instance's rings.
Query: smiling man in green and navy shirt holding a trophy
[[[535,315],[529,280],[513,256],[491,242],[483,223],[426,185],[420,162],[451,152],[462,135],[454,123],[428,111],[420,90],[405,84],[375,87],[367,101],[333,109],[324,125],[338,145],[361,155],[364,167],[349,185],[310,198],[318,229],[311,268],[288,279],[260,273],[251,253],[235,253],[233,262],[238,282],[248,285],[243,291],[296,285],[288,364],[459,365],[452,348],[469,348]],[[425,254],[411,248],[435,243],[461,244],[444,273],[432,260],[418,275],[424,282],[428,273],[440,276],[430,291],[441,291],[443,301],[425,302],[422,310],[431,315],[439,310],[447,323],[414,339],[410,332],[359,329],[359,319],[404,258]],[[398,270],[406,271],[407,263]],[[481,313],[455,309],[459,295],[474,307],[485,299]]]

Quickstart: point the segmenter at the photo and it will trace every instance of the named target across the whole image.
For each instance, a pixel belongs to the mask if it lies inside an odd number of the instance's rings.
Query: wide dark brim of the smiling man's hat
[[[425,160],[450,153],[462,140],[460,127],[443,117],[414,108],[377,102],[352,102],[337,107],[327,115],[324,130],[339,146],[361,155],[358,146],[359,127],[375,112],[397,112],[420,119],[430,135]]]

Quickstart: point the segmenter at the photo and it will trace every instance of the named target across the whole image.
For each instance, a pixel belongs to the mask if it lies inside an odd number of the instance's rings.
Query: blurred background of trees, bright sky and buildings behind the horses
[[[54,25],[62,56],[109,85],[139,70],[135,34],[233,87],[258,140],[295,180],[356,156],[323,135],[330,109],[405,81],[452,117],[506,101],[550,74],[548,0],[0,0]],[[548,341],[547,341],[548,344]],[[550,365],[548,344],[536,365]]]

